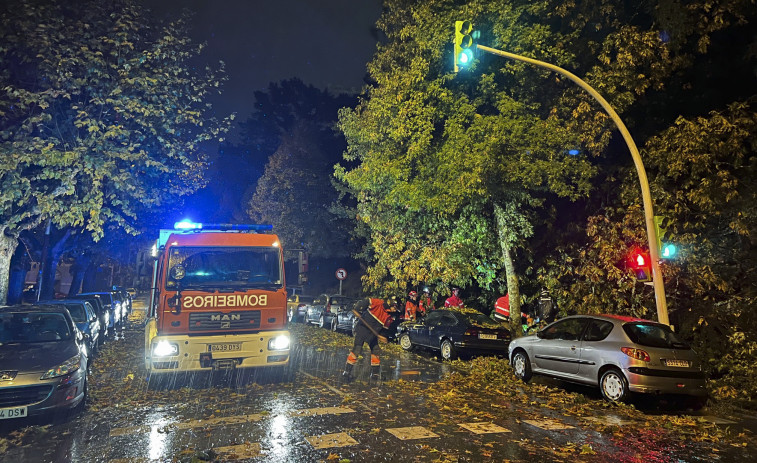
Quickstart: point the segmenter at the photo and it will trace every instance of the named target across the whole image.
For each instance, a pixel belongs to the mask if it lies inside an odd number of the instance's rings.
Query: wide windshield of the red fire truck
[[[175,247],[166,288],[280,288],[280,255],[276,247]]]

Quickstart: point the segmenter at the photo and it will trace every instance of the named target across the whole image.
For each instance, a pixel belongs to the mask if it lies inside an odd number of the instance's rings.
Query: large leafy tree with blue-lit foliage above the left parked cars
[[[24,230],[51,219],[97,239],[203,184],[199,143],[223,66],[195,69],[187,17],[133,0],[21,0],[0,9],[0,300]]]

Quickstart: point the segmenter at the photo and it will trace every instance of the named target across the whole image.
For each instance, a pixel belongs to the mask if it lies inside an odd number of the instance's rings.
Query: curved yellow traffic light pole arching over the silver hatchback
[[[657,249],[657,231],[655,230],[654,226],[652,195],[649,192],[647,172],[644,170],[644,163],[641,162],[641,155],[639,154],[639,150],[636,148],[636,143],[634,143],[633,138],[631,138],[631,134],[628,132],[626,125],[623,124],[623,121],[620,120],[618,113],[616,113],[615,110],[612,109],[612,106],[610,106],[610,104],[607,102],[607,100],[602,98],[602,95],[591,88],[589,84],[581,80],[575,74],[566,71],[561,67],[545,63],[544,61],[526,58],[525,56],[520,56],[513,53],[508,53],[506,51],[497,50],[495,48],[486,47],[484,45],[476,44],[475,47],[476,49],[485,51],[487,53],[504,56],[505,58],[510,58],[518,61],[524,61],[526,63],[541,66],[564,75],[568,79],[578,84],[579,87],[589,92],[589,94],[593,96],[600,105],[602,105],[604,110],[607,111],[607,114],[610,115],[610,118],[612,118],[613,122],[615,122],[618,130],[620,130],[620,133],[623,134],[623,139],[626,141],[626,145],[628,145],[629,151],[631,151],[631,157],[633,158],[633,163],[636,166],[636,172],[639,174],[639,183],[641,184],[641,198],[644,205],[644,219],[647,224],[647,239],[649,240],[649,256],[652,260],[652,284],[654,286],[655,302],[657,304],[657,321],[665,325],[669,325],[670,322],[668,320],[668,307],[665,301],[665,286],[662,282],[662,271],[660,270],[660,253]]]

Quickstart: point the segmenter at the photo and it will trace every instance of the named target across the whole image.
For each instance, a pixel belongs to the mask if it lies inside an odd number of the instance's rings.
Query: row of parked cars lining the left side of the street
[[[0,307],[0,420],[81,409],[87,367],[131,303],[114,289]]]

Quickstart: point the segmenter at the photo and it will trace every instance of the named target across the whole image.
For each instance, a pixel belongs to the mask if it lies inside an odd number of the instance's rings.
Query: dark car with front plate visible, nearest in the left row
[[[84,405],[84,336],[58,305],[0,308],[0,420]]]

